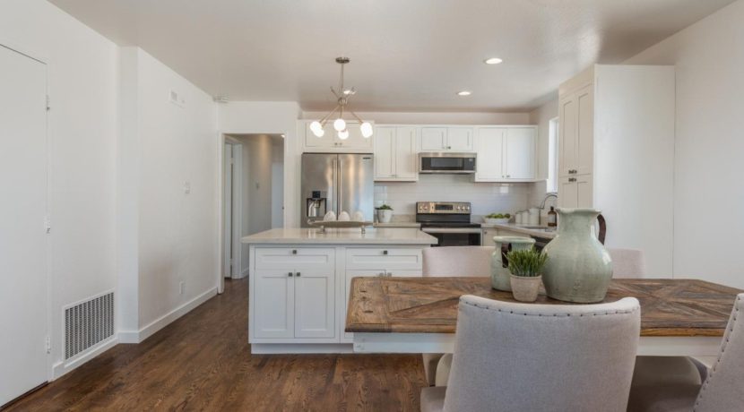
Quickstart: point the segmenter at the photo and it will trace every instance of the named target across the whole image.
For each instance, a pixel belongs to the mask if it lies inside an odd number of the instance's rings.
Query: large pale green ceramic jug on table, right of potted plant
[[[604,299],[612,279],[612,260],[594,234],[600,213],[596,209],[558,209],[558,234],[543,249],[548,262],[542,270],[542,283],[549,297],[582,304]]]

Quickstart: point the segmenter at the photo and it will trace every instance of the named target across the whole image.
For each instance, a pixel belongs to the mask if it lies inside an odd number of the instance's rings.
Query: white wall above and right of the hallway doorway
[[[220,132],[225,134],[284,134],[284,225],[299,227],[301,149],[294,101],[236,101],[219,105]]]

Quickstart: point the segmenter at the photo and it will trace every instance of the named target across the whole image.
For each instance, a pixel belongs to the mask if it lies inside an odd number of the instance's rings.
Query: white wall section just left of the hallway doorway
[[[211,96],[143,50],[125,47],[122,63],[123,79],[136,78],[136,117],[122,122],[136,124],[136,136],[123,137],[136,142],[129,177],[137,182],[137,331],[144,339],[216,293],[217,112]],[[184,105],[170,102],[171,90]]]

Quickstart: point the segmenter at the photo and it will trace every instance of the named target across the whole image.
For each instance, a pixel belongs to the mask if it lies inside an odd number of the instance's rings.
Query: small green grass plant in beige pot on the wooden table
[[[548,255],[532,249],[514,250],[506,253],[509,271],[512,273],[512,294],[520,302],[534,302],[542,281],[542,268]]]

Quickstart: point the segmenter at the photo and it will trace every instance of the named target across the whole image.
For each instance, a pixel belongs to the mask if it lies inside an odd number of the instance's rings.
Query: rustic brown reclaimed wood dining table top
[[[723,336],[734,298],[742,292],[696,279],[613,279],[604,302],[634,296],[641,336]],[[354,278],[346,331],[454,333],[460,296],[516,302],[489,278]],[[541,295],[536,304],[578,305]]]

